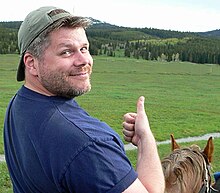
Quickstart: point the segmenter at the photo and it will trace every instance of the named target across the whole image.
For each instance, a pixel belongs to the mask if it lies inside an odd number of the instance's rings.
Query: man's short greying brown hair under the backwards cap
[[[54,16],[59,13],[65,13],[63,9],[56,9],[49,13],[49,16]],[[44,51],[50,45],[50,33],[60,29],[61,27],[77,28],[82,27],[86,29],[92,24],[91,20],[80,16],[67,16],[60,20],[57,20],[47,29],[45,29],[27,48],[26,52],[31,53],[34,57],[41,60],[43,58]]]

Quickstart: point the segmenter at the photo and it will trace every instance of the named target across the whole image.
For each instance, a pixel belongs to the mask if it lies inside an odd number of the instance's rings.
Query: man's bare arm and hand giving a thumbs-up
[[[155,138],[151,132],[144,109],[144,97],[137,102],[137,113],[127,113],[123,122],[124,139],[138,147],[136,170],[138,179],[123,193],[163,193],[164,175],[157,151]]]

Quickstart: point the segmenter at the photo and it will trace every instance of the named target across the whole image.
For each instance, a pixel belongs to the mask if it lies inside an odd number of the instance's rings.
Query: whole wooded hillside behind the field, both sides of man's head
[[[220,30],[193,33],[128,28],[89,19],[93,22],[87,29],[92,55],[220,64]],[[0,54],[19,52],[20,24],[21,21],[0,22]]]

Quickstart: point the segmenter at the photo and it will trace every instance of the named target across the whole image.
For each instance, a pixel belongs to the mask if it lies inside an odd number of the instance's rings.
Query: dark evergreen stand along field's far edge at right
[[[193,63],[220,64],[220,40],[183,38],[173,43],[151,41],[127,42],[125,56],[159,61],[189,61]]]

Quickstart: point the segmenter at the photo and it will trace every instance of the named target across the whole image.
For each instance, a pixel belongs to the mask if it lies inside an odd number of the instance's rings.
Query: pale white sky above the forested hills
[[[0,6],[0,21],[23,21],[30,11],[48,5],[124,27],[220,29],[220,0],[6,0]]]

